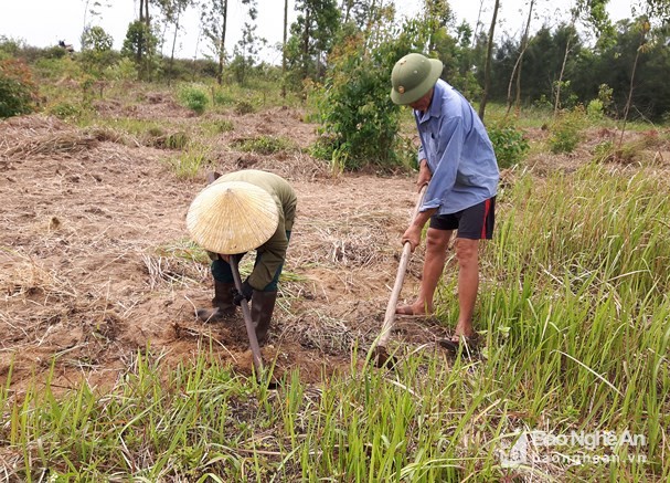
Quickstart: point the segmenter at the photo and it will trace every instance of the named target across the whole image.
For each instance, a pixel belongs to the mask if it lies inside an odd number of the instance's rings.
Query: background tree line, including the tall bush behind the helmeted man
[[[521,35],[496,41],[499,0],[490,23],[478,21],[475,28],[457,24],[447,0],[424,0],[416,17],[403,19],[394,2],[385,0],[284,0],[280,66],[260,60],[267,41],[257,29],[258,0],[240,0],[245,17],[233,45],[228,0],[140,0],[119,52],[96,24],[105,6],[93,2],[74,59],[88,81],[124,75],[244,85],[262,77],[280,83],[284,95],[316,94],[321,137],[315,154],[336,167],[357,169],[370,159],[393,165],[410,151],[398,146],[401,111],[389,98],[389,76],[394,63],[412,51],[440,59],[443,77],[478,105],[482,119],[492,101],[506,104],[512,119],[522,108],[557,115],[584,106],[624,124],[629,118],[667,120],[670,0],[641,0],[635,18],[616,23],[606,14],[607,1],[574,0],[561,23],[531,33],[536,0],[529,0]],[[200,12],[199,41],[210,52],[205,60],[174,57],[189,9]],[[296,14],[290,24],[289,9]],[[29,52],[0,39],[0,97],[8,76],[28,82],[29,72],[14,57]],[[61,48],[46,54],[70,55]],[[499,137],[513,134],[501,130]]]

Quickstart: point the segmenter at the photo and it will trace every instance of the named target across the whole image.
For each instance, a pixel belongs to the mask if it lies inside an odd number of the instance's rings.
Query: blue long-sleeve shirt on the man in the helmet
[[[455,213],[496,196],[500,172],[493,146],[458,91],[438,80],[428,111],[414,111],[414,117],[422,144],[418,160],[426,159],[432,174],[421,211]]]

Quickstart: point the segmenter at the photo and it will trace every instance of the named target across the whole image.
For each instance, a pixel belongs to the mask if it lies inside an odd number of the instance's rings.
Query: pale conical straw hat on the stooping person
[[[191,202],[187,214],[193,241],[224,255],[257,249],[275,233],[278,223],[273,197],[245,181],[210,185]]]

